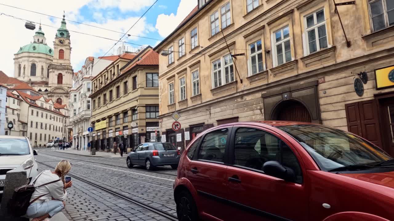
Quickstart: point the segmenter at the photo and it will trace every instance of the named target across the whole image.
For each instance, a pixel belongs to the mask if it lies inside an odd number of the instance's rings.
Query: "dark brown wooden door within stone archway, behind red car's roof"
[[[299,101],[282,101],[273,112],[272,120],[312,122],[308,109]]]

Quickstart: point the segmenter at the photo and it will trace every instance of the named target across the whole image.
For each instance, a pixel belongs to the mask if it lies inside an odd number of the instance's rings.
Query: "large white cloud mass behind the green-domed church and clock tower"
[[[131,1],[131,0],[130,0]],[[134,1],[134,0],[133,0]],[[145,2],[135,0],[136,2]],[[90,0],[69,0],[67,4],[64,4],[64,7],[59,7],[58,2],[52,0],[43,0],[40,1],[40,4],[36,4],[34,1],[6,1],[4,4],[9,4],[16,7],[30,9],[32,11],[39,11],[41,13],[45,13],[48,15],[54,15],[57,17],[62,17],[63,8],[66,11],[66,19],[76,20],[83,18],[80,15],[79,9],[91,2]],[[141,3],[142,4],[142,3]],[[137,7],[137,6],[136,6]],[[62,8],[62,9],[59,9]],[[45,15],[39,15],[36,13],[31,13],[28,11],[22,11],[20,9],[14,9],[7,6],[0,5],[0,11],[6,13],[8,15],[13,15],[19,18],[25,18],[31,20],[33,22],[39,22],[41,20],[42,24],[47,24],[50,26],[54,26],[55,28],[42,26],[42,29],[45,33],[46,43],[48,46],[53,48],[53,41],[56,33],[56,29],[60,27],[60,19],[50,18]],[[95,14],[96,16],[100,16],[100,14]],[[107,28],[111,30],[119,30],[121,32],[127,31],[132,24],[134,24],[139,17],[129,17],[121,20],[116,19],[108,19],[101,17],[96,17],[95,22],[84,22],[86,24],[99,26],[102,28]],[[0,60],[2,61],[0,64],[0,70],[6,73],[8,76],[13,76],[14,72],[14,54],[19,50],[19,47],[29,44],[33,40],[33,35],[35,31],[38,30],[38,24],[36,24],[36,29],[28,30],[24,28],[25,21],[17,20],[11,17],[6,17],[5,15],[0,16],[0,24],[2,24],[2,29],[7,30],[7,34],[3,34],[0,41],[0,48],[2,49],[2,53],[0,53]],[[78,71],[81,68],[82,63],[84,63],[86,57],[89,56],[102,56],[105,52],[107,52],[115,41],[101,39],[98,37],[93,37],[89,35],[84,35],[80,33],[75,33],[72,31],[79,31],[83,33],[89,33],[93,35],[99,35],[102,37],[116,39],[118,40],[122,34],[106,31],[90,26],[85,26],[82,24],[76,24],[74,22],[67,21],[67,29],[70,30],[71,34],[71,64],[74,71]],[[72,31],[71,31],[72,30]],[[155,28],[152,24],[148,24],[145,17],[141,18],[139,22],[134,26],[134,28],[129,32],[132,35],[140,35],[146,36],[150,32],[154,31]],[[126,41],[133,42],[136,41],[137,37],[128,37]],[[126,46],[134,46],[126,44]],[[114,48],[117,48],[115,46]],[[112,50],[109,52],[112,53]]]

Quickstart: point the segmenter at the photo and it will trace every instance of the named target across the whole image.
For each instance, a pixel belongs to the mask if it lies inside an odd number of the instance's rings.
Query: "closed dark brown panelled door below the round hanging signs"
[[[345,108],[348,131],[382,147],[376,100],[346,104]]]

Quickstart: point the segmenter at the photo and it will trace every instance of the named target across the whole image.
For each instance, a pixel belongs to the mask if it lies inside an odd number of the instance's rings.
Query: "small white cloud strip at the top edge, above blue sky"
[[[92,0],[89,6],[95,8],[117,8],[121,11],[139,11],[150,7],[154,0]]]

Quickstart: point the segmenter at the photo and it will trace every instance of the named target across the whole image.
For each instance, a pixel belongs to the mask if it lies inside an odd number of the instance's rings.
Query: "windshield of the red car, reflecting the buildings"
[[[359,164],[374,165],[392,159],[374,145],[332,127],[289,125],[278,128],[293,136],[323,170]]]

